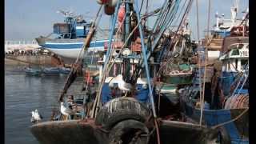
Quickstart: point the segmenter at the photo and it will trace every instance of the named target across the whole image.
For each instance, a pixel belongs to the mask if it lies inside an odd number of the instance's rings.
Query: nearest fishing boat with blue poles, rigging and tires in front
[[[179,88],[177,82],[191,83],[190,68],[193,66],[182,64],[194,54],[186,33],[188,9],[183,9],[192,1],[183,3],[184,7],[179,9],[182,1],[166,0],[161,8],[145,14],[139,10],[138,1],[98,0],[98,3],[101,6],[89,34],[94,33],[102,7],[106,14],[112,15],[112,22],[109,43],[98,61],[97,90],[94,94],[86,91],[81,119],[66,118],[34,124],[31,126],[34,137],[47,144],[230,142],[225,130],[199,125],[182,114],[179,102],[172,100],[177,100],[177,94],[174,94]],[[150,29],[142,19],[154,14],[158,14],[158,18]],[[174,32],[168,32],[176,14],[183,15],[180,26]],[[89,38],[86,38],[85,47],[88,47]],[[77,77],[79,62],[77,60],[72,67],[59,98],[62,115],[67,114],[66,91]],[[166,66],[166,62],[172,62],[176,67],[169,69],[172,66]],[[179,74],[170,73],[170,70],[178,70]],[[162,76],[181,79],[176,83],[171,83],[172,80],[163,82]],[[87,77],[86,90],[89,90],[90,76]],[[188,79],[183,81],[182,78]],[[81,114],[72,109],[68,111],[73,115]],[[220,134],[222,137],[218,139]]]

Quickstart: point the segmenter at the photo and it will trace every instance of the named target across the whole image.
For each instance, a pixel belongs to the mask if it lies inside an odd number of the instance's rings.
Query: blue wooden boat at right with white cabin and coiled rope
[[[225,44],[225,41],[224,41]],[[231,42],[230,48],[220,57],[221,73],[217,68],[211,82],[206,82],[205,102],[202,110],[202,122],[207,126],[222,126],[229,134],[231,143],[249,143],[249,52],[248,43]],[[240,48],[238,48],[238,45]],[[238,53],[234,53],[234,50]],[[196,75],[196,74],[195,74]],[[208,74],[209,75],[209,74]],[[214,82],[214,77],[217,82]],[[194,77],[194,86],[180,91],[184,113],[199,122],[201,117],[199,103],[199,79]],[[215,87],[214,87],[215,85]]]

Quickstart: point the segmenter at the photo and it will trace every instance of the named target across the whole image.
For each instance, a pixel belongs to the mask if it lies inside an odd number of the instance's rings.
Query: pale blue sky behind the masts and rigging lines
[[[154,10],[162,6],[164,0],[149,0],[150,9]],[[192,37],[197,34],[195,0],[188,16]],[[208,0],[198,0],[199,7],[199,31],[200,38],[207,26]],[[211,0],[210,27],[215,23],[214,14],[225,14],[230,18],[230,6],[233,0]],[[240,0],[238,13],[246,10],[249,0]],[[40,35],[46,36],[53,31],[55,22],[63,22],[64,17],[58,14],[58,10],[74,10],[76,14],[94,16],[98,10],[96,0],[5,0],[5,39],[30,41]],[[109,26],[110,16],[103,14],[99,24],[101,28]],[[238,14],[242,18],[242,14]],[[86,18],[90,20],[91,18]]]

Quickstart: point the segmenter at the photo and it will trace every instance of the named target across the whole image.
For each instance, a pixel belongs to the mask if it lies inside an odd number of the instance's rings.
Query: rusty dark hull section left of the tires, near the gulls
[[[31,126],[31,132],[42,144],[105,144],[107,135],[94,122],[52,121]]]

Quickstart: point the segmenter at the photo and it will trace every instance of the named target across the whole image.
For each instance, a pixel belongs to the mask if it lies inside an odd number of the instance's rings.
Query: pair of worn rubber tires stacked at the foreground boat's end
[[[150,141],[146,122],[150,110],[134,98],[114,98],[99,110],[95,124],[109,130],[109,143],[138,143]]]

